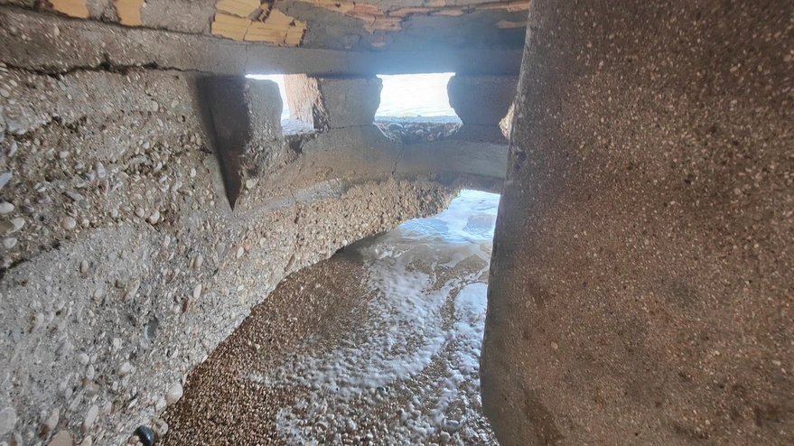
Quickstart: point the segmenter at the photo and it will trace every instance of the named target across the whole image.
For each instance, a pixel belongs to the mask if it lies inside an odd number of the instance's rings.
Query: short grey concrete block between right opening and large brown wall
[[[449,104],[463,124],[499,125],[516,98],[516,76],[455,75],[447,84]]]

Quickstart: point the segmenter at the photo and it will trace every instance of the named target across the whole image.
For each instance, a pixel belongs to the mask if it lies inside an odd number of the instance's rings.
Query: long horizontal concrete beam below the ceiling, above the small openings
[[[341,51],[257,45],[126,28],[0,5],[0,60],[28,70],[160,67],[212,74],[517,74],[519,48]]]

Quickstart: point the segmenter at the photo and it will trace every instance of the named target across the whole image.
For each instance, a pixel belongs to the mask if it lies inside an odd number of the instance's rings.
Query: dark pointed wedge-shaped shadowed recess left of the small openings
[[[201,124],[218,158],[231,209],[242,190],[241,161],[253,137],[245,88],[245,78],[228,76],[199,78],[194,89]]]

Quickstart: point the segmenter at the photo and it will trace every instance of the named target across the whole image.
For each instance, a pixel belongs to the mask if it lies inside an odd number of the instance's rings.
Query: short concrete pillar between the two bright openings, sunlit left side
[[[375,77],[329,78],[285,76],[292,117],[318,130],[372,125],[383,82]]]

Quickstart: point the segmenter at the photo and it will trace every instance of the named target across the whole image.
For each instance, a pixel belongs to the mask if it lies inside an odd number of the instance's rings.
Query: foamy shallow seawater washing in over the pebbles
[[[463,190],[441,214],[350,247],[367,272],[361,314],[330,345],[305,339],[280,367],[248,376],[310,389],[276,417],[285,442],[354,430],[378,444],[496,443],[479,358],[498,205],[498,195]]]

